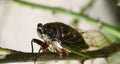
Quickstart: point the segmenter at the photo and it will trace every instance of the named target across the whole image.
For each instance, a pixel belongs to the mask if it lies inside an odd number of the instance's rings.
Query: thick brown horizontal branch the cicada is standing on
[[[0,50],[3,48],[0,48]],[[23,61],[33,61],[34,57],[37,55],[37,53],[26,53],[26,52],[20,52],[10,49],[4,49],[5,51],[11,51],[9,54],[6,55],[6,58],[0,59],[0,63],[7,63],[7,62],[23,62]],[[109,57],[113,55],[114,53],[120,51],[120,44],[119,43],[113,43],[110,46],[107,46],[105,48],[95,50],[95,51],[87,51],[87,52],[81,52],[84,55],[89,55],[91,58],[85,58],[80,57],[79,55],[70,53],[68,57],[66,55],[63,55],[62,58],[57,53],[53,52],[42,52],[40,53],[40,56],[38,58],[38,61],[50,61],[50,60],[81,60],[83,58],[92,59],[92,58],[104,58]],[[1,52],[1,51],[0,51]]]

